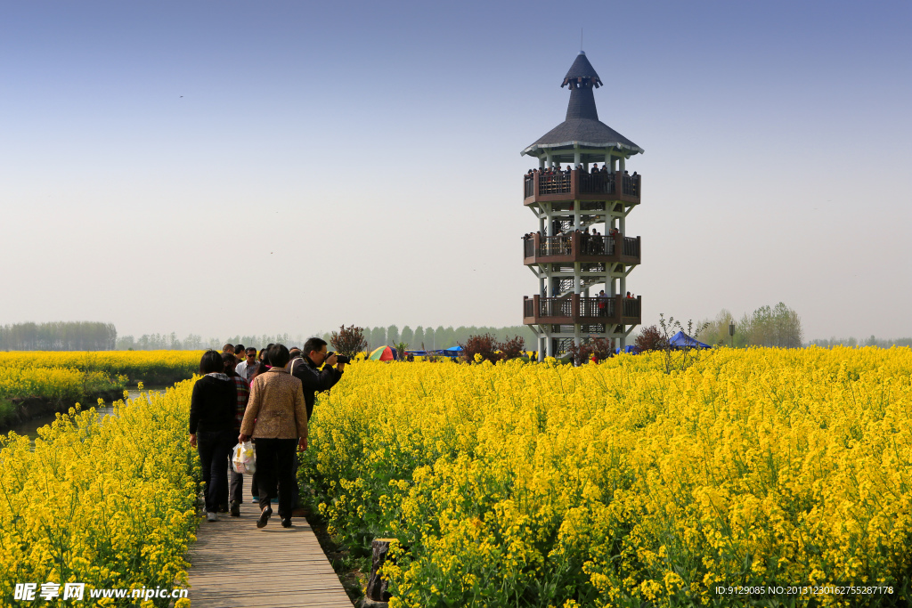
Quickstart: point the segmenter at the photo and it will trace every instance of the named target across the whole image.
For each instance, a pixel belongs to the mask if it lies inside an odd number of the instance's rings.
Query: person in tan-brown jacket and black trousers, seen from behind
[[[295,492],[295,443],[307,448],[307,410],[301,381],[285,371],[288,363],[285,345],[269,349],[272,369],[256,376],[250,386],[250,401],[241,422],[242,443],[256,439],[256,478],[259,485],[260,518],[263,528],[273,510],[270,498],[279,499],[282,526],[291,528],[292,500]]]

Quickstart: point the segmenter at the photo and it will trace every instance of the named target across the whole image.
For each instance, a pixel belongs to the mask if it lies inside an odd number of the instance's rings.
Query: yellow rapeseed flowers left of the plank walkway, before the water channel
[[[39,429],[34,451],[28,438],[0,438],[2,605],[48,604],[40,597],[15,602],[16,583],[39,589],[45,582],[61,589],[65,582],[87,589],[186,584],[184,553],[198,522],[200,477],[187,440],[191,392],[188,380],[167,393],[119,402],[103,422],[94,408],[70,410]],[[82,605],[114,603],[89,601],[87,591]]]

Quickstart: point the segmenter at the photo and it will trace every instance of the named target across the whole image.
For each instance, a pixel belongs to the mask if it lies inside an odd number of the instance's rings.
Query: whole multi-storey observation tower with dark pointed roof
[[[598,119],[594,92],[602,80],[583,51],[565,86],[566,119],[522,151],[538,159],[523,179],[524,204],[538,218],[538,232],[523,237],[523,263],[538,279],[538,294],[523,298],[523,324],[538,336],[539,360],[590,338],[623,349],[642,321],[641,298],[627,297],[627,275],[640,263],[627,215],[639,204],[642,179],[627,173],[627,159],[644,150]]]

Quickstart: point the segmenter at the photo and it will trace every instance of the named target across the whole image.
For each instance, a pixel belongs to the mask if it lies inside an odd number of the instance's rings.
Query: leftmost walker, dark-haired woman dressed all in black
[[[222,353],[206,351],[200,361],[202,378],[193,385],[190,401],[190,445],[200,453],[206,482],[206,519],[217,521],[219,499],[228,483],[228,455],[234,445],[237,393],[224,373]]]

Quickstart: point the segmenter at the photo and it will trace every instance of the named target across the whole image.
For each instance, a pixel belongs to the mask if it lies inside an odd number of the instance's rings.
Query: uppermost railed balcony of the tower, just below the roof
[[[526,205],[572,201],[621,201],[638,205],[642,180],[641,175],[607,171],[571,170],[547,175],[539,170],[523,176],[523,199]]]

